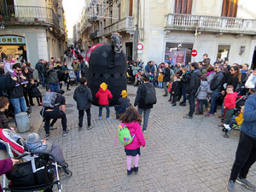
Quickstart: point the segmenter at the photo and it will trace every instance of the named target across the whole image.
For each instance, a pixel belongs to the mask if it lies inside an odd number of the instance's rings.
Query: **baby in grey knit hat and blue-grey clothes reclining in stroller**
[[[67,176],[71,176],[72,172],[68,170],[68,164],[64,159],[60,146],[46,142],[46,139],[40,140],[38,133],[30,133],[26,137],[26,148],[32,152],[44,152],[52,154],[56,162],[62,167]]]

